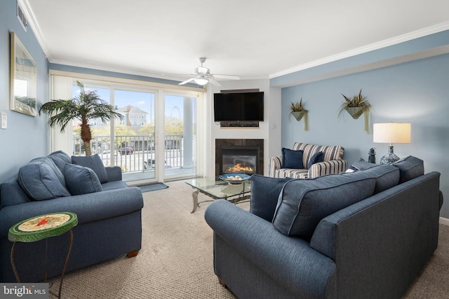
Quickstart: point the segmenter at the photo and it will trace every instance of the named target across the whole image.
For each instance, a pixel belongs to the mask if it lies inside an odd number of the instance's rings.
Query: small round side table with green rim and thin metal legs
[[[59,285],[59,293],[56,295],[51,292],[53,295],[61,298],[61,290],[62,290],[62,281],[64,279],[65,269],[67,267],[67,263],[70,258],[70,253],[72,252],[73,246],[73,232],[72,228],[78,224],[78,216],[72,212],[64,211],[57,213],[44,214],[40,216],[35,216],[33,218],[26,219],[24,221],[20,221],[13,225],[8,232],[8,240],[13,243],[13,247],[11,248],[11,265],[13,267],[13,271],[15,274],[15,279],[20,283],[20,277],[18,271],[15,267],[14,261],[14,249],[16,242],[36,242],[41,239],[46,239],[45,246],[45,282],[47,281],[47,239],[49,237],[55,237],[58,235],[62,235],[65,232],[70,232],[70,245],[69,251],[67,252],[67,258],[65,259],[64,267],[62,268],[62,274]]]

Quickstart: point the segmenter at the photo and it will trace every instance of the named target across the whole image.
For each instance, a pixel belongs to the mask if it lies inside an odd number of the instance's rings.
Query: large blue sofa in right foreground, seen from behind
[[[350,168],[254,175],[250,211],[212,202],[220,283],[237,298],[401,298],[438,246],[440,174],[414,157]]]

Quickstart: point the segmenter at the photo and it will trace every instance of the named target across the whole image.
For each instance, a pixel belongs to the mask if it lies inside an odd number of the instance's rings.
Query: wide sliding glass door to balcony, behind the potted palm
[[[123,84],[86,81],[123,116],[90,122],[93,154],[106,166],[119,166],[134,185],[192,177],[196,174],[196,102],[198,92],[150,90]],[[79,88],[75,85],[73,96]],[[74,155],[84,155],[74,126]]]

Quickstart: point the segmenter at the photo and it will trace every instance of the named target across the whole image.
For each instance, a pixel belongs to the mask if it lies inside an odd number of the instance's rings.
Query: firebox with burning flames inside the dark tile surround
[[[257,146],[221,146],[220,174],[256,174],[259,162]]]

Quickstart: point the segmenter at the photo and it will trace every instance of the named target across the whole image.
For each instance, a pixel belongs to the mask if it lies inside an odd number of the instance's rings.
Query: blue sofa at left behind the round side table
[[[67,271],[128,254],[141,247],[142,192],[121,181],[120,167],[104,167],[98,155],[69,157],[58,151],[20,167],[0,185],[0,281],[15,282],[8,230],[19,221],[58,211],[78,216]],[[48,277],[62,272],[69,234],[48,238]],[[15,246],[22,282],[43,280],[46,241]]]

